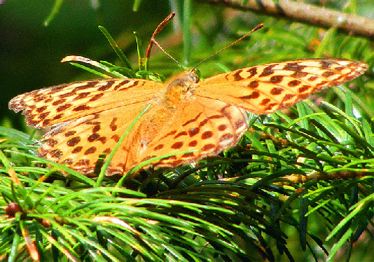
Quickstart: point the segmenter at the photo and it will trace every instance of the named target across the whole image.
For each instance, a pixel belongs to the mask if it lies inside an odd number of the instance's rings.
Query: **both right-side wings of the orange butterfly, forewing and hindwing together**
[[[366,68],[348,60],[296,60],[207,78],[195,84],[193,99],[181,106],[141,160],[172,153],[153,166],[176,167],[214,156],[237,144],[247,130],[244,109],[272,113],[312,92],[352,80]]]

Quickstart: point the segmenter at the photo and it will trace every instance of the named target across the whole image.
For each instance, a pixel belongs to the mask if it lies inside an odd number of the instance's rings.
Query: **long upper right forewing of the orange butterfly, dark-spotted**
[[[257,114],[293,106],[313,92],[363,74],[368,65],[338,59],[263,64],[219,74],[198,83],[196,95],[219,99]]]

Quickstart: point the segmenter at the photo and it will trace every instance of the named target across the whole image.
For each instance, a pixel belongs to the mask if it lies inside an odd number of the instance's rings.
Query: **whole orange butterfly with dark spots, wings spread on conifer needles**
[[[263,64],[199,81],[185,71],[166,83],[102,79],[56,85],[14,97],[27,125],[53,127],[39,156],[89,177],[99,155],[109,154],[139,113],[111,159],[107,176],[144,168],[176,167],[235,146],[249,127],[247,112],[267,114],[310,94],[360,76],[363,62],[307,59]],[[167,156],[162,158],[162,156]]]

